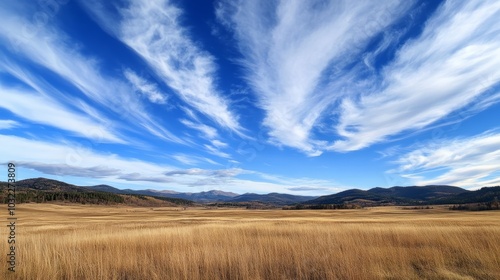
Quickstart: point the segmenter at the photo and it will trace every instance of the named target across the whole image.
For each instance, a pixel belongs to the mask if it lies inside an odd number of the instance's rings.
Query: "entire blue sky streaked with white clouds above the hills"
[[[321,195],[500,184],[500,2],[8,1],[18,179]]]

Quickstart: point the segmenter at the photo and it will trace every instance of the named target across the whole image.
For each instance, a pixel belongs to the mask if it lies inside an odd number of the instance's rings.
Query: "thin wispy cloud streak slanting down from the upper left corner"
[[[170,133],[147,113],[139,97],[126,82],[103,74],[96,59],[83,55],[68,36],[50,23],[32,23],[21,6],[23,4],[5,5],[0,8],[0,41],[4,43],[6,50],[29,63],[50,70],[99,106],[109,109],[123,120],[136,124],[138,129],[146,130],[164,140],[183,143],[182,139]],[[27,36],[24,30],[34,32]],[[2,59],[2,67],[10,70],[15,69],[13,63],[26,62]],[[23,68],[22,65],[19,67]],[[35,87],[33,84],[30,86]]]

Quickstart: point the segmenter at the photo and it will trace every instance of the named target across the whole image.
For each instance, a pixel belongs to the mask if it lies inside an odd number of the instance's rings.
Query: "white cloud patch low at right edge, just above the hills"
[[[396,163],[398,168],[393,172],[419,185],[472,188],[500,185],[500,134],[487,132],[431,142],[401,155]]]

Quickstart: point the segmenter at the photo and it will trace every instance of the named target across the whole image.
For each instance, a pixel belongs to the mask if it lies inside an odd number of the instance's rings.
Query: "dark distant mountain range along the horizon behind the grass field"
[[[5,199],[7,183],[1,183],[2,199]],[[18,195],[27,201],[43,202],[52,200],[73,200],[75,202],[95,201],[115,203],[133,202],[143,203],[148,200],[152,204],[170,203],[247,203],[258,202],[266,205],[329,205],[355,204],[360,206],[376,205],[422,205],[422,204],[467,204],[487,203],[500,199],[500,187],[485,187],[476,191],[468,191],[454,186],[410,186],[391,188],[372,188],[369,190],[351,189],[320,197],[297,196],[282,193],[236,194],[220,190],[210,190],[198,193],[175,192],[170,190],[131,190],[118,189],[108,185],[75,186],[57,180],[34,178],[21,180],[16,183]],[[137,200],[139,199],[139,200]],[[125,202],[123,202],[125,201]],[[144,204],[144,203],[143,203]]]

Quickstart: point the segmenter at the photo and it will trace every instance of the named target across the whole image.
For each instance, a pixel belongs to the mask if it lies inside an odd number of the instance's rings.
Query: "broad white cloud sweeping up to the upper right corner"
[[[336,130],[344,139],[330,148],[358,150],[468,104],[481,110],[498,102],[498,92],[484,93],[500,80],[499,16],[498,1],[447,1],[385,67],[383,89],[343,100]]]

